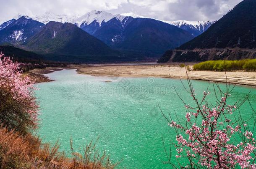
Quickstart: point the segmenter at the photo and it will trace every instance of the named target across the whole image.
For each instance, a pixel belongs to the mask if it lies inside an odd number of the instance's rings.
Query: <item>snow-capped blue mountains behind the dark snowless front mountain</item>
[[[50,21],[59,22],[56,23],[57,25],[72,23],[69,26],[74,24],[74,27],[81,28],[114,49],[138,53],[144,51],[145,55],[152,56],[162,54],[167,49],[178,47],[194,36],[203,33],[214,23],[212,21],[172,22],[147,18],[134,13],[111,14],[97,10],[86,13],[79,18],[47,12],[35,16],[33,19],[22,16],[17,20],[13,19],[2,24],[0,43],[29,43],[32,40],[31,37],[45,27],[44,23]],[[77,29],[81,30],[79,28]],[[67,31],[70,32],[70,30]],[[55,39],[59,36],[59,31],[52,30],[49,35],[51,39]]]

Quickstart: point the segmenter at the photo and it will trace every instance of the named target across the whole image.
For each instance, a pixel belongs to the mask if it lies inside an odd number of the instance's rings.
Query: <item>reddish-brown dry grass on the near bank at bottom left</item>
[[[112,169],[106,154],[100,155],[92,141],[84,148],[84,153],[74,151],[71,140],[72,158],[59,152],[55,145],[42,144],[38,137],[22,135],[0,126],[0,169]]]

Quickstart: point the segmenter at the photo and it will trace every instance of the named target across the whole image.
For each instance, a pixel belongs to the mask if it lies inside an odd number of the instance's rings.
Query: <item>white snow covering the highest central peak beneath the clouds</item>
[[[96,20],[100,26],[103,21],[107,22],[107,21],[111,20],[112,18],[117,18],[118,20],[120,20],[122,22],[125,17],[126,16],[123,16],[120,14],[114,15],[114,14],[108,13],[106,11],[92,10],[91,12],[86,13],[85,15],[77,18],[75,23],[78,25],[78,27],[81,27],[82,24],[89,25],[94,20]]]

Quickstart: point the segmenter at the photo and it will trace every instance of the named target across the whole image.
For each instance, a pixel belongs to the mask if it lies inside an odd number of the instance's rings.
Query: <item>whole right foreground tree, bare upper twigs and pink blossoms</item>
[[[180,168],[256,169],[256,144],[252,132],[255,127],[256,112],[251,107],[250,119],[253,119],[254,124],[247,124],[242,118],[239,108],[245,101],[251,105],[248,96],[241,102],[229,105],[227,99],[233,88],[230,89],[230,86],[226,85],[226,91],[223,92],[216,83],[217,88],[214,87],[213,97],[216,97],[217,101],[212,104],[207,99],[211,96],[208,89],[204,91],[202,99],[196,98],[195,90],[188,78],[188,88],[183,86],[195,101],[195,106],[186,104],[180,98],[187,113],[181,119],[176,114],[177,121],[173,121],[174,117],[171,115],[170,118],[167,118],[162,112],[169,122],[168,125],[176,131],[177,142],[174,144],[171,142],[171,146],[174,146],[177,151],[175,158],[186,159],[185,165],[179,164]],[[215,89],[217,90],[215,91]],[[234,112],[238,112],[238,116],[232,121],[230,116],[234,116]],[[171,153],[170,156],[167,155],[167,158],[169,159],[167,163],[170,163],[173,168],[178,168],[170,162]]]

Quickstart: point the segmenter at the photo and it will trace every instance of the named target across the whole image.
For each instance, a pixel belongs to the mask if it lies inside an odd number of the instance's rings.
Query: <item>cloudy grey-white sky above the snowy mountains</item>
[[[0,0],[0,23],[18,14],[81,16],[91,10],[136,13],[160,20],[218,20],[242,0]]]

